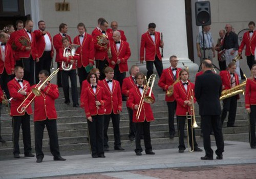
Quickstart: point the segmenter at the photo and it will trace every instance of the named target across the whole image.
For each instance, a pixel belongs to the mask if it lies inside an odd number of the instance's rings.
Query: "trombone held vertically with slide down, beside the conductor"
[[[191,149],[188,149],[189,152],[194,151],[194,128],[198,127],[196,116],[195,116],[195,105],[194,105],[194,90],[192,89],[190,91],[190,101],[192,103],[192,106],[189,107],[189,112],[186,112],[186,120],[187,120],[187,147],[189,148],[189,129],[191,129],[191,141],[192,146]],[[189,113],[189,115],[188,115]],[[188,125],[188,120],[191,121],[191,126]]]

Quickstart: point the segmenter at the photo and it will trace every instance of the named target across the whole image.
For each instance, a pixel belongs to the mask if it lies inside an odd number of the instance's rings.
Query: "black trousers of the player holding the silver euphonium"
[[[69,99],[69,77],[71,81],[71,95],[73,105],[78,104],[78,92],[76,84],[76,70],[61,71],[62,87],[65,97],[65,102],[70,102]]]

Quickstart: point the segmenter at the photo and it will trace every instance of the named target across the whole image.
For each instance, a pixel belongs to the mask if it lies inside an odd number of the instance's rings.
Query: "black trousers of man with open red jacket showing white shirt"
[[[39,58],[39,61],[35,63],[35,76],[36,76],[36,83],[39,82],[38,75],[41,70],[47,70],[49,74],[51,74],[51,64],[52,64],[52,57],[51,51],[44,52]]]

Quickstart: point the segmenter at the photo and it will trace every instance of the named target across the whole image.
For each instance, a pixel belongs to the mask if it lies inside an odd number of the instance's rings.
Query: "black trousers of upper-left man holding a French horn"
[[[35,79],[38,78],[38,76],[35,76],[35,60],[33,60],[32,56],[30,55],[29,58],[22,58],[22,64],[24,68],[23,78],[29,81],[31,86],[34,85]]]

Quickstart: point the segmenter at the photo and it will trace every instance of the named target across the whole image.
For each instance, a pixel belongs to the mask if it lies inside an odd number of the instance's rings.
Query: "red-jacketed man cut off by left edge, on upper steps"
[[[9,36],[6,33],[0,33],[0,83],[9,99],[7,83],[14,74],[14,58],[11,45],[7,43],[8,39]]]

